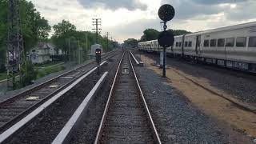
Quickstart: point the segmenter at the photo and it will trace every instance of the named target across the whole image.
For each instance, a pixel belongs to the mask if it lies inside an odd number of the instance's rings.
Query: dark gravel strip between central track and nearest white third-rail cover
[[[121,58],[122,54],[120,55]],[[78,130],[74,132],[70,139],[70,143],[94,143],[98,126],[102,120],[102,114],[106,106],[106,101],[110,93],[111,85],[114,80],[114,74],[118,68],[119,59],[115,61],[112,70],[106,78],[105,83],[102,85],[102,91],[94,97],[93,101],[88,107],[88,111],[82,118],[82,124]]]

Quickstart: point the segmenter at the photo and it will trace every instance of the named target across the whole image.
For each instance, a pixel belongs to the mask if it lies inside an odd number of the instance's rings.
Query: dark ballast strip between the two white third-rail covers
[[[108,65],[102,67],[101,73],[110,70],[113,64],[114,62],[109,61]],[[64,98],[56,102],[54,106],[51,106],[49,110],[46,110],[44,114],[41,114],[40,117],[35,119],[26,130],[22,130],[10,143],[52,142],[74,113],[74,110],[78,108],[79,104],[86,97],[86,94],[98,82],[98,78],[100,76],[97,76],[95,73],[90,74],[83,82],[65,94]]]

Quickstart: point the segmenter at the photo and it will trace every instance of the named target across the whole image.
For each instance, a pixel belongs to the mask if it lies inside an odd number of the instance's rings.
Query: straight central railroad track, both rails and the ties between
[[[94,143],[161,143],[128,52],[119,63]]]

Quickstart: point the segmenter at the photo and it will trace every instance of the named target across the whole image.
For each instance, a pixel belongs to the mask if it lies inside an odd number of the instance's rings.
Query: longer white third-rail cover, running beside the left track
[[[104,65],[106,61],[101,63],[101,66]],[[79,82],[81,82],[88,75],[92,74],[95,70],[97,70],[97,66],[94,66],[89,72],[86,74],[82,74],[80,78],[77,78],[75,82],[73,82],[70,86],[67,86],[64,90],[58,92],[58,94],[54,95],[54,97],[50,98],[46,102],[44,102],[41,106],[38,106],[37,109],[33,110],[30,114],[27,114],[25,118],[22,118],[19,122],[15,123],[14,126],[11,126],[9,129],[5,130],[2,134],[0,134],[0,143],[6,142],[12,135],[16,134],[18,130],[21,130],[24,126],[26,126],[30,121],[32,121],[38,114],[41,114],[42,111],[46,110],[52,103],[56,102],[59,98],[61,98],[66,92],[71,90],[74,86],[76,86]]]

